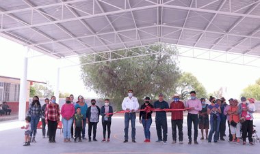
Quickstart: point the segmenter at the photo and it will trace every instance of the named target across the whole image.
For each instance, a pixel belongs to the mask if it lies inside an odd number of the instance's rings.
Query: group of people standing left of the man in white
[[[60,110],[59,104],[56,103],[55,96],[51,97],[51,101],[46,98],[45,104],[41,106],[38,96],[33,98],[33,102],[29,104],[27,117],[25,118],[26,125],[21,127],[25,129],[25,143],[24,146],[30,145],[30,142],[36,142],[37,125],[42,119],[42,138],[49,138],[49,142],[55,141],[55,134],[57,130],[57,124],[60,123],[60,116],[62,115],[62,125],[64,142],[71,142],[70,138],[73,138],[75,142],[82,142],[86,140],[85,128],[88,123],[88,141],[96,140],[96,127],[99,122],[99,115],[102,116],[103,125],[103,140],[102,142],[109,142],[111,117],[113,116],[113,108],[109,106],[109,99],[105,99],[105,104],[99,108],[96,106],[96,100],[91,100],[91,106],[88,107],[86,102],[83,101],[83,97],[79,95],[78,101],[73,102],[74,96],[66,97],[66,103]],[[48,125],[48,131],[46,134],[46,125]],[[74,129],[73,129],[74,128]],[[93,138],[92,136],[93,129]],[[105,138],[107,130],[107,139]],[[73,136],[74,134],[74,136]]]

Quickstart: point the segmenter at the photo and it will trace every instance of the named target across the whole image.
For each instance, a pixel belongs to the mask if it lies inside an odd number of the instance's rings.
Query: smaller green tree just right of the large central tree
[[[181,93],[181,99],[187,99],[190,97],[190,91],[196,91],[198,98],[207,97],[207,91],[203,84],[191,73],[184,72],[178,80],[176,92]]]

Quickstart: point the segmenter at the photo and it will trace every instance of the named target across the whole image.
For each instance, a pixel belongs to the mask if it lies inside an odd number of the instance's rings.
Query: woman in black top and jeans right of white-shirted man
[[[144,127],[144,142],[150,142],[151,139],[150,127],[152,124],[153,113],[153,111],[151,111],[151,108],[153,108],[153,105],[150,103],[150,97],[145,97],[144,104],[142,104],[140,108],[141,110],[144,109],[145,111],[141,111],[139,114],[140,123],[142,123]]]

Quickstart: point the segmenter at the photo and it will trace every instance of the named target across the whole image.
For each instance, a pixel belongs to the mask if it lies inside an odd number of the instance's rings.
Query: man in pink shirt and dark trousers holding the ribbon
[[[189,136],[188,144],[192,144],[192,123],[194,125],[194,144],[198,144],[198,111],[202,110],[200,99],[196,98],[196,92],[190,92],[190,98],[186,102],[187,110],[187,135]]]

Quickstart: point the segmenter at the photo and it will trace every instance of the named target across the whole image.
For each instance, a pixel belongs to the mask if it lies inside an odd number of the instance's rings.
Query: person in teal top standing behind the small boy
[[[77,97],[77,99],[79,100],[79,102],[77,104],[75,104],[75,110],[77,110],[77,108],[81,109],[81,114],[83,115],[83,127],[82,127],[82,139],[86,140],[85,137],[85,128],[86,128],[86,116],[87,116],[87,109],[88,109],[88,105],[84,102],[84,98],[83,96],[79,95],[79,97]]]

